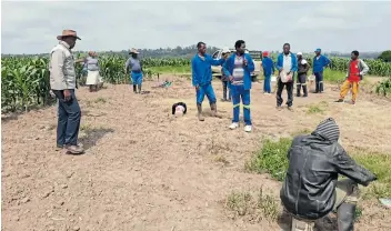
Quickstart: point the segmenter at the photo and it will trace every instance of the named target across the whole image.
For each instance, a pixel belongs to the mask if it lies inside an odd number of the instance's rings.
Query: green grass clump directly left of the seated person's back
[[[258,173],[270,173],[272,178],[282,181],[288,169],[287,154],[291,143],[292,139],[289,138],[281,138],[277,142],[265,140],[252,160],[245,163],[245,169]]]

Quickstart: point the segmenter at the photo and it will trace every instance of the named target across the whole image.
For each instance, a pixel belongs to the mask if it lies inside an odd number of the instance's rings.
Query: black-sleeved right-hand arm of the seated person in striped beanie
[[[377,180],[377,177],[372,172],[357,164],[342,147],[339,149],[338,153],[334,154],[331,160],[338,173],[343,174],[364,187],[371,181]]]

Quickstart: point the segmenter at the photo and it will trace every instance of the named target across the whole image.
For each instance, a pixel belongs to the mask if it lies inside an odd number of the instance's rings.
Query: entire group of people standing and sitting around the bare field
[[[76,69],[71,49],[76,41],[80,40],[73,30],[63,30],[62,36],[58,37],[59,43],[50,52],[50,87],[58,99],[58,127],[57,127],[57,148],[66,149],[72,154],[83,152],[82,144],[78,143],[80,128],[80,107],[74,94]],[[211,66],[222,66],[222,74],[231,92],[233,102],[233,120],[230,129],[239,127],[240,102],[243,103],[244,131],[251,131],[250,113],[250,90],[251,72],[254,71],[254,62],[249,53],[245,52],[245,42],[238,40],[234,43],[235,52],[230,54],[229,49],[224,49],[220,60],[212,59],[205,53],[204,42],[197,44],[198,53],[191,61],[192,84],[196,89],[198,119],[203,121],[202,102],[204,96],[208,97],[213,117],[219,117],[217,112],[217,99],[211,84]],[[130,69],[133,91],[141,92],[142,64],[137,58],[137,50],[130,51],[131,58],[126,63],[126,71]],[[265,80],[270,80],[273,72],[273,63],[268,60],[267,53],[263,63]],[[97,56],[89,53],[87,60],[88,71],[99,73]],[[368,66],[360,59],[359,53],[352,52],[352,60],[349,62],[348,77],[344,82],[340,100],[349,90],[350,86],[357,92],[358,82],[368,72]],[[315,61],[317,60],[317,61]],[[322,70],[329,63],[327,58],[317,51],[313,70],[317,76],[317,91],[323,91]],[[292,104],[293,76],[298,72],[297,84],[303,87],[303,96],[307,96],[305,78],[309,67],[302,59],[290,52],[290,46],[283,46],[283,53],[279,54],[275,68],[279,71],[277,103],[281,107],[281,92],[287,87],[289,99],[287,104]],[[317,68],[314,68],[317,67]],[[97,73],[97,72],[96,72]],[[94,74],[96,74],[94,73]],[[96,86],[99,77],[91,74],[93,81],[88,81]],[[90,73],[89,73],[90,76]],[[265,92],[270,93],[270,86],[265,81]],[[227,91],[225,91],[227,92]],[[298,96],[300,89],[298,89]],[[229,98],[225,98],[228,100]],[[179,102],[172,106],[172,114],[183,116],[187,113],[187,106]],[[358,183],[368,185],[377,177],[364,168],[358,165],[338,143],[340,137],[339,127],[331,118],[321,122],[318,128],[308,135],[299,135],[293,139],[288,153],[289,169],[281,190],[281,201],[284,209],[293,217],[292,230],[310,230],[313,221],[324,217],[330,211],[338,212],[338,225],[340,231],[353,230],[355,203],[358,200]],[[338,181],[338,175],[343,174],[348,180]],[[300,228],[304,224],[303,229]]]

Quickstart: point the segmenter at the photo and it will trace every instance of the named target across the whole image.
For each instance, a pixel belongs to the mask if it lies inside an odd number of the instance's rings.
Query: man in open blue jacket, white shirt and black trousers
[[[277,108],[281,110],[283,99],[281,97],[282,90],[287,87],[288,101],[287,106],[289,110],[292,110],[293,104],[293,78],[294,72],[298,71],[298,60],[293,53],[291,53],[291,46],[289,43],[283,44],[283,52],[277,58],[277,69],[279,70],[279,79],[277,82]],[[287,81],[281,79],[281,74],[285,74]]]

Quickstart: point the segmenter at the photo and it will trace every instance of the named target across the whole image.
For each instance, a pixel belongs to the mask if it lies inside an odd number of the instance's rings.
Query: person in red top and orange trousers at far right
[[[359,93],[359,83],[368,71],[369,67],[367,63],[362,59],[359,59],[359,51],[352,51],[351,60],[348,62],[347,80],[341,87],[340,99],[337,102],[343,102],[344,97],[352,89],[352,104],[354,106]]]

